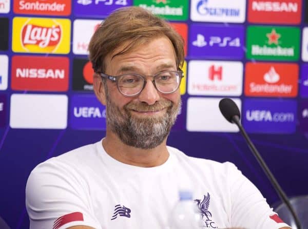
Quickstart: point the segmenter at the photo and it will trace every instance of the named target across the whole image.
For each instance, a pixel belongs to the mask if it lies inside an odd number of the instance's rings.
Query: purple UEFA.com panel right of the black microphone
[[[296,100],[244,100],[242,123],[247,132],[293,133],[296,129],[296,119]]]

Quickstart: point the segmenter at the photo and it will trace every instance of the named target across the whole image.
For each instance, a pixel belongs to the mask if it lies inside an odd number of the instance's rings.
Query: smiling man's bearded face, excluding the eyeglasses
[[[117,51],[117,50],[116,50]],[[132,51],[106,56],[106,74],[117,76],[137,73],[152,76],[166,70],[177,70],[174,48],[169,39],[160,37],[134,48]],[[179,89],[162,94],[147,79],[136,97],[123,96],[117,84],[106,81],[107,131],[114,132],[126,145],[154,148],[168,136],[181,106]]]

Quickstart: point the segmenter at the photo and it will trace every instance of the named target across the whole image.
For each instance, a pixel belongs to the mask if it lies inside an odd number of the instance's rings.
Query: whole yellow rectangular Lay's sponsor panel
[[[14,52],[58,53],[70,51],[70,20],[14,17]]]

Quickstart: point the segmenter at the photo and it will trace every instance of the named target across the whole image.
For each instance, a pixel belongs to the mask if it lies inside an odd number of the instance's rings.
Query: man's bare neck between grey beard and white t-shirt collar
[[[169,157],[166,139],[155,148],[141,149],[124,144],[117,135],[107,130],[106,137],[103,139],[102,144],[110,157],[122,163],[134,166],[159,166],[165,163]]]

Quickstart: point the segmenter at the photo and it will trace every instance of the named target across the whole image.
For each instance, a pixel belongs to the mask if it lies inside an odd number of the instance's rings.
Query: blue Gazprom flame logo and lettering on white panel
[[[208,7],[208,0],[200,0],[197,4],[197,11],[201,15],[211,16],[234,16],[240,15],[238,8]]]

